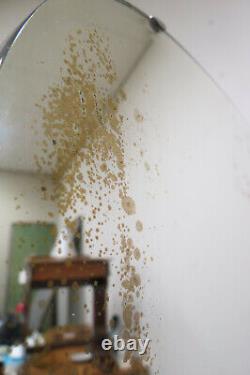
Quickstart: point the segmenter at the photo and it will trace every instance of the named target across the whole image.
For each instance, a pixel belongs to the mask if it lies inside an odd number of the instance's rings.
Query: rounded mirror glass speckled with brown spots
[[[27,374],[249,373],[250,134],[169,35],[47,1],[1,67],[0,136],[0,310]]]

